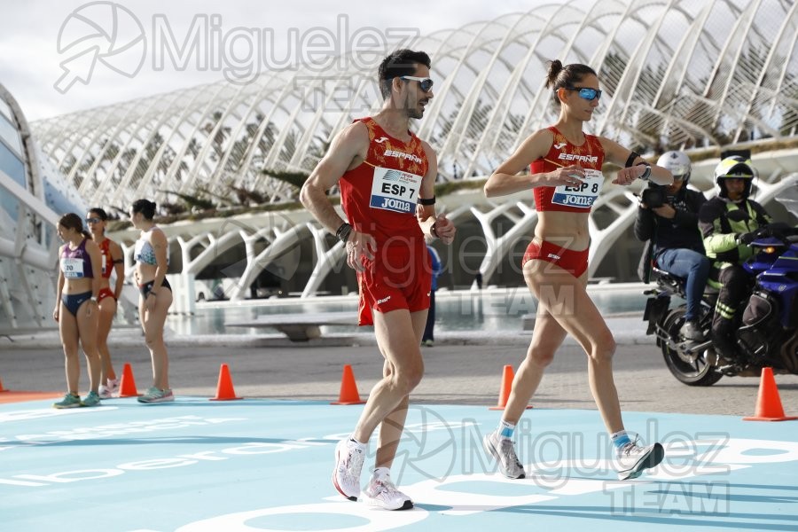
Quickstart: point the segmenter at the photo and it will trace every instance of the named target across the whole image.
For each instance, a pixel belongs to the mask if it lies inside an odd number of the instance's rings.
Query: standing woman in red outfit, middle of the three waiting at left
[[[99,395],[101,399],[110,399],[119,391],[119,379],[113,371],[111,351],[108,349],[108,333],[111,332],[113,317],[116,316],[116,303],[119,301],[122,286],[125,282],[125,261],[122,258],[121,246],[112,239],[106,238],[106,222],[108,215],[100,207],[94,207],[86,215],[91,239],[98,245],[101,254],[102,275],[100,290],[97,296],[99,307],[97,327],[97,349],[102,370],[100,371]],[[111,273],[116,272],[116,281],[111,289]]]

